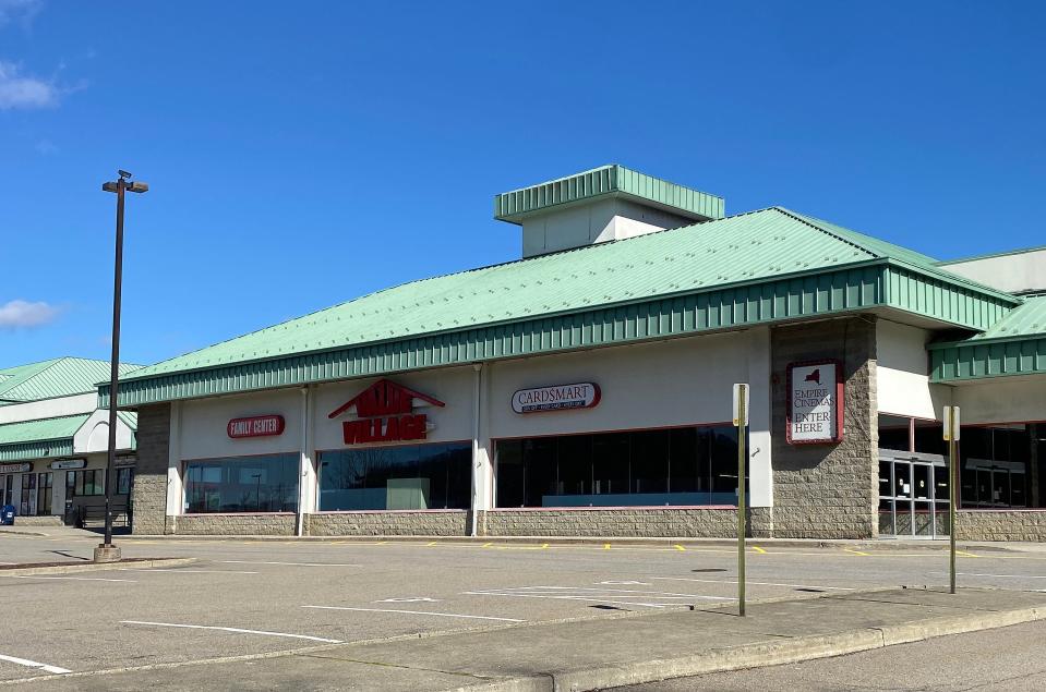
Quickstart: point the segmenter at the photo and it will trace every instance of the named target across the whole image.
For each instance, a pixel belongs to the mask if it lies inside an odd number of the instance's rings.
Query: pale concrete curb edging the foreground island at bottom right
[[[521,676],[476,685],[455,688],[454,692],[582,692],[605,690],[630,684],[660,682],[673,678],[709,675],[779,666],[817,658],[883,648],[895,644],[921,642],[937,636],[977,632],[995,628],[1046,619],[1046,608],[1020,608],[997,612],[976,612],[964,616],[935,618],[919,622],[866,628],[709,649],[693,656],[661,660],[645,660],[627,665],[608,664],[599,668],[550,671],[541,676]]]

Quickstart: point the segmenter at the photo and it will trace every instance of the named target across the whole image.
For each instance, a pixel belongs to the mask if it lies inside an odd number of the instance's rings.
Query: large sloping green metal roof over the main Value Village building
[[[773,207],[413,281],[144,367],[121,405],[894,306],[970,329],[1020,299]],[[103,385],[103,405],[107,405]]]

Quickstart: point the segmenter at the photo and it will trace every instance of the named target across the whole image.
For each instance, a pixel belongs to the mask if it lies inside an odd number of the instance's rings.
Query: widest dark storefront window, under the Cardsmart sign
[[[496,452],[498,507],[737,501],[729,426],[501,440]]]

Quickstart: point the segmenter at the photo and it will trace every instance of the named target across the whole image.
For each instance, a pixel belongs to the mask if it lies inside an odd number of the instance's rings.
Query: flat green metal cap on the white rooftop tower
[[[494,218],[519,223],[530,214],[603,195],[633,197],[694,219],[723,218],[722,197],[616,163],[496,195]]]

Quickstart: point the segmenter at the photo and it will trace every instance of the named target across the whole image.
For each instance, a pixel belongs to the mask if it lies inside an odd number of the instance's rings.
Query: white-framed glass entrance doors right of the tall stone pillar
[[[948,535],[948,466],[942,457],[879,450],[879,535]]]

